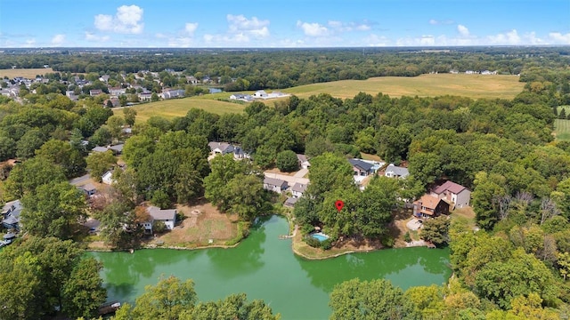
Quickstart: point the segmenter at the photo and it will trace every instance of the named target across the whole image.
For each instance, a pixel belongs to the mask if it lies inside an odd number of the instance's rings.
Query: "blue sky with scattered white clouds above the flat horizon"
[[[570,44],[570,0],[0,0],[0,47]]]

